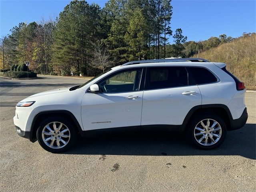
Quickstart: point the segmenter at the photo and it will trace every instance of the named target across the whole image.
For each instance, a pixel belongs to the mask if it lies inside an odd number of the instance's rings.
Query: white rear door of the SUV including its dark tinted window
[[[201,102],[200,90],[197,85],[189,85],[185,67],[148,67],[142,128],[146,125],[181,125],[189,110]]]

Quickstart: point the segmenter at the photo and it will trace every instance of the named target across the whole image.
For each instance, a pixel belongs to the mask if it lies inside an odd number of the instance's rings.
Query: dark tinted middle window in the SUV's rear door
[[[188,85],[188,73],[184,67],[150,67],[146,74],[146,90]]]

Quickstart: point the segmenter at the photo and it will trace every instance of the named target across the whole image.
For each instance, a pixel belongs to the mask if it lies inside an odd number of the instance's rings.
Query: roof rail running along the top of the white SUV
[[[123,64],[122,66],[142,64],[142,63],[160,63],[160,62],[210,62],[210,61],[202,58],[152,59],[152,60],[131,61]]]

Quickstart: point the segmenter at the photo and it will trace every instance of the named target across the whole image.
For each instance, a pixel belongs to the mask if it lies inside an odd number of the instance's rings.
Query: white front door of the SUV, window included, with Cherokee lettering
[[[142,68],[120,70],[97,82],[100,93],[86,92],[81,112],[84,130],[139,131],[143,96],[141,77]]]

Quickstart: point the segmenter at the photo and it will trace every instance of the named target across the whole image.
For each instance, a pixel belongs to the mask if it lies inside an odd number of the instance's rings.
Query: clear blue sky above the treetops
[[[20,22],[55,19],[70,0],[0,0],[0,37]],[[107,0],[87,0],[102,8]],[[172,0],[171,28],[181,28],[188,41],[220,34],[238,37],[256,32],[256,0]],[[169,42],[173,42],[170,37]]]

